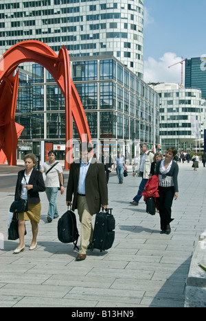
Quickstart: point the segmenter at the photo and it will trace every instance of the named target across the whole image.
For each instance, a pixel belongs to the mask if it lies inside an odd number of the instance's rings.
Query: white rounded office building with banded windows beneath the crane
[[[164,153],[169,146],[179,153],[203,151],[205,99],[197,88],[179,88],[178,84],[158,84],[159,140]]]

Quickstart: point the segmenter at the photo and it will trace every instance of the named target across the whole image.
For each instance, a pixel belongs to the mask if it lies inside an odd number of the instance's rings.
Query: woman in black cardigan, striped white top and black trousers
[[[172,214],[173,199],[178,198],[178,181],[179,166],[174,161],[176,148],[169,147],[165,152],[165,159],[157,163],[155,174],[159,175],[159,198],[157,204],[159,207],[161,234],[170,234],[170,222]]]

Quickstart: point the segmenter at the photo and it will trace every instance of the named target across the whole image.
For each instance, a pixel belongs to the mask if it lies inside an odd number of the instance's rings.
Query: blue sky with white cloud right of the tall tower
[[[185,58],[206,54],[205,0],[145,0],[144,81],[181,83]],[[185,62],[183,62],[183,84]]]

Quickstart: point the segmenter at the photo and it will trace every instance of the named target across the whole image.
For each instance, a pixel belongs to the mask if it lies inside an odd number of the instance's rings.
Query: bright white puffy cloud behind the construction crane
[[[159,60],[149,57],[144,61],[144,81],[145,82],[174,82],[181,83],[181,66],[182,64],[176,64],[181,62],[182,58],[177,57],[176,53],[166,52]],[[176,64],[173,67],[168,68],[172,64]],[[183,84],[185,83],[185,62],[183,62]]]

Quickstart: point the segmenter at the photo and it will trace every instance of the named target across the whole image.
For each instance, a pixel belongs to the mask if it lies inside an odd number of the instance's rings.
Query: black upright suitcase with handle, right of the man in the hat
[[[111,211],[112,209],[106,209],[106,211],[102,209],[96,215],[91,250],[97,248],[102,252],[113,246],[115,240],[115,218]]]

